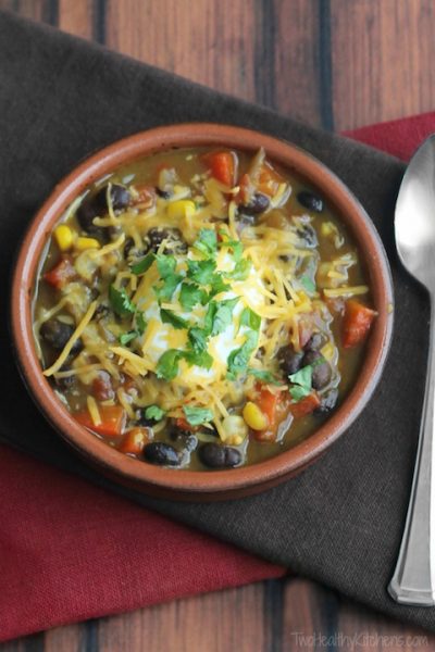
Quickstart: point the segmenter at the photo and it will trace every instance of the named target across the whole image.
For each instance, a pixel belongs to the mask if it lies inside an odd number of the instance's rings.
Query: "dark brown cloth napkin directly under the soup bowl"
[[[0,325],[3,378],[8,379],[0,396],[1,439],[384,613],[435,630],[434,609],[398,606],[386,593],[414,464],[428,318],[426,298],[398,266],[393,242],[394,202],[403,165],[348,139],[9,14],[0,14],[0,59],[3,279],[13,264],[12,251],[36,208],[80,159],[147,127],[215,121],[285,138],[336,172],[376,224],[390,258],[396,291],[393,349],[375,397],[322,460],[260,496],[223,503],[177,504],[101,478],[52,432],[27,398],[7,343],[5,319]],[[7,300],[3,284],[0,301],[4,311]],[[32,485],[24,487],[29,500]],[[40,509],[46,509],[45,503]],[[26,537],[23,540],[25,543]],[[95,539],[89,542],[95,543]],[[23,541],[10,542],[12,549],[20,543]]]

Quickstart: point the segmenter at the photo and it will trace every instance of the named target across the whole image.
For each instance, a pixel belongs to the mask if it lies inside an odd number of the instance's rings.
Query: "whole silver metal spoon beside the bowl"
[[[401,604],[435,604],[435,135],[417,151],[396,203],[396,244],[407,271],[431,301],[430,348],[411,498],[395,573],[388,586]]]

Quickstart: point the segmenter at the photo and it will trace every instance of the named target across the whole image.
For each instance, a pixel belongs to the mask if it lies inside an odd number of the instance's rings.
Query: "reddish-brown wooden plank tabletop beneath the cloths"
[[[434,0],[0,0],[327,129],[435,105]],[[0,652],[435,650],[435,636],[300,578],[60,627]]]

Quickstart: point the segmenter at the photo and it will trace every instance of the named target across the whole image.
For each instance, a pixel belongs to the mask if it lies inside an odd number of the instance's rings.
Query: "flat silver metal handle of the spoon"
[[[419,447],[400,552],[388,586],[396,602],[420,606],[435,604],[435,542],[431,543],[435,515],[432,478],[435,438],[434,312],[434,297],[431,296],[430,348]]]

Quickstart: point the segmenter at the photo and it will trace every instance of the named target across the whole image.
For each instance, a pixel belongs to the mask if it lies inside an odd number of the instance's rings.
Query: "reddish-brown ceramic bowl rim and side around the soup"
[[[360,375],[341,406],[307,440],[279,455],[247,467],[216,472],[174,471],[146,464],[107,446],[66,411],[42,376],[32,330],[33,292],[41,255],[66,206],[89,184],[146,154],[177,147],[225,146],[268,155],[316,187],[350,228],[365,260],[378,317],[370,334]],[[185,124],[136,134],[107,147],[78,165],[39,210],[23,241],[12,288],[12,333],[23,377],[50,424],[82,456],[112,479],[174,500],[219,500],[261,491],[286,480],[323,453],[362,411],[380,377],[393,327],[393,290],[386,254],[362,206],[344,184],[304,151],[239,127]]]

